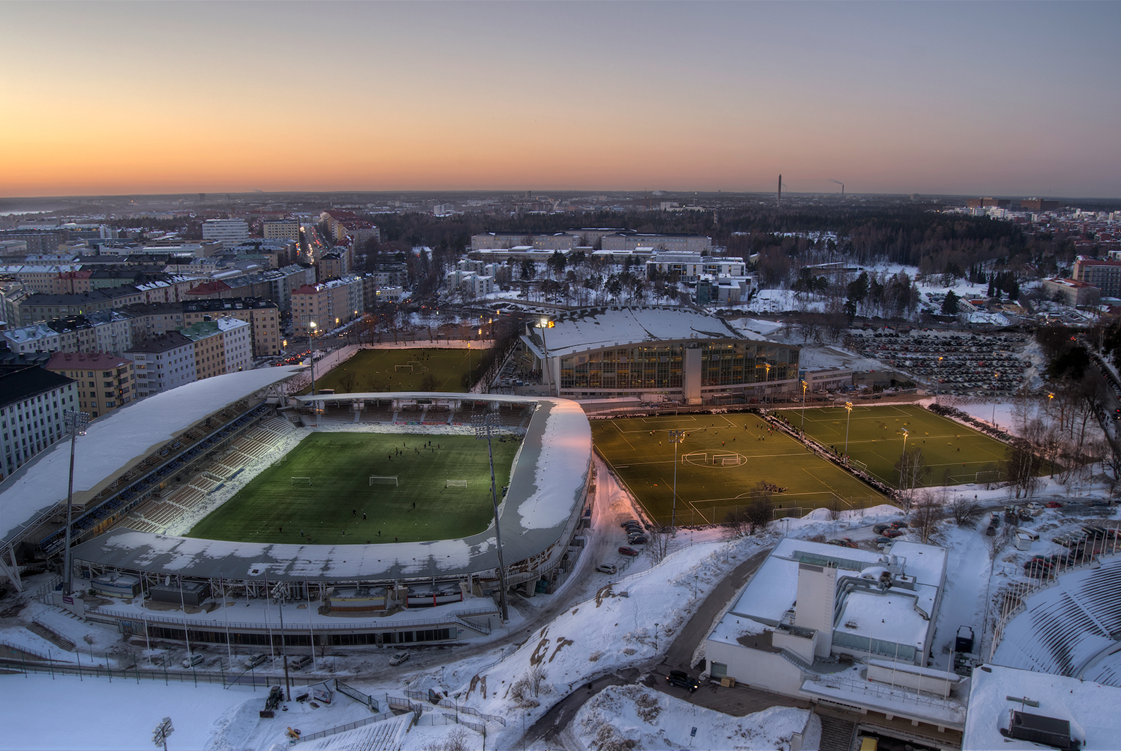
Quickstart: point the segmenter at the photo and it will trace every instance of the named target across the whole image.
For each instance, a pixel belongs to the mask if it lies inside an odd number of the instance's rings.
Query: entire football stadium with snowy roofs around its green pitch
[[[564,581],[593,481],[578,405],[295,396],[300,370],[197,381],[91,424],[71,526],[82,594],[40,599],[150,639],[389,645],[489,633],[499,537],[508,587]],[[17,586],[19,565],[64,547],[68,461],[59,443],[0,492]],[[298,609],[284,628],[279,602]]]

